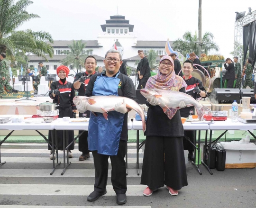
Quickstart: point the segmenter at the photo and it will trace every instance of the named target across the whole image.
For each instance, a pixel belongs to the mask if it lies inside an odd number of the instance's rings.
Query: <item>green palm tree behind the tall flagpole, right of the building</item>
[[[211,50],[217,52],[219,51],[219,46],[213,41],[213,34],[210,32],[205,32],[202,37],[202,42],[210,42],[210,44],[202,45],[202,51],[204,54],[209,54]],[[198,51],[197,45],[194,43],[198,41],[197,33],[192,35],[191,32],[185,32],[182,39],[177,39],[174,41],[174,50],[180,52],[184,56],[191,52],[195,52],[195,54],[200,54]]]

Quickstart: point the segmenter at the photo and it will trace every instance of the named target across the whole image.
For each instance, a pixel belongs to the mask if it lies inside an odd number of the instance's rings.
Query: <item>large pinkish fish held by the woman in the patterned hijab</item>
[[[203,118],[204,111],[210,111],[210,109],[203,106],[184,92],[160,89],[141,89],[140,93],[148,100],[151,100],[153,97],[158,98],[158,105],[164,112],[167,109],[180,109],[179,105],[181,101],[183,101],[187,107],[194,106],[200,119]]]

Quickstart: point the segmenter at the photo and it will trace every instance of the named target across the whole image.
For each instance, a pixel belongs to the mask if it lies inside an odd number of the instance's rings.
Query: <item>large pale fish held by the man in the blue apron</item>
[[[87,102],[87,110],[91,112],[103,113],[104,118],[108,119],[108,112],[114,111],[114,107],[119,102],[125,102],[126,108],[134,109],[142,120],[143,131],[146,130],[145,116],[141,107],[133,99],[120,96],[75,96],[73,102],[79,104],[80,100],[85,99]]]

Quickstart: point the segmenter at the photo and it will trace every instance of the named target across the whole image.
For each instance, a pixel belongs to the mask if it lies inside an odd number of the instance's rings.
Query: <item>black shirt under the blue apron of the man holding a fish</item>
[[[118,73],[118,72],[117,72]],[[117,73],[113,76],[115,77]],[[91,97],[92,96],[92,90],[94,87],[94,83],[97,79],[98,76],[101,76],[101,74],[94,74],[91,76],[91,79],[88,83],[88,86],[85,91],[85,96]],[[102,76],[106,76],[106,72],[102,72]],[[136,99],[136,91],[135,91],[135,86],[133,84],[133,81],[126,75],[119,73],[118,77],[120,79],[119,86],[118,88],[118,96],[121,97],[126,97],[129,99],[137,100]],[[124,123],[122,127],[122,132],[121,132],[121,137],[120,140],[128,140],[128,113],[125,114],[124,116]]]

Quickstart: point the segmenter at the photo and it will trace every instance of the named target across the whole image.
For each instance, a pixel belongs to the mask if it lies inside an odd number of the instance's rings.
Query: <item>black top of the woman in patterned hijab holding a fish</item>
[[[183,87],[179,91],[185,92],[185,88]],[[147,101],[146,105],[149,107],[146,118],[146,136],[184,136],[179,110],[170,119],[160,106],[152,106]]]

